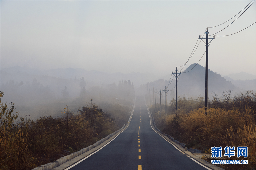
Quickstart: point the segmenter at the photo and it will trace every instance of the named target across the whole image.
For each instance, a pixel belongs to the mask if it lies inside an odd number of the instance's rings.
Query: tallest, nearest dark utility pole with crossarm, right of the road
[[[208,28],[206,28],[206,38],[201,38],[200,37],[200,35],[199,35],[199,39],[206,39],[206,43],[205,43],[205,45],[206,45],[206,58],[205,58],[205,112],[207,113],[207,109],[208,109],[208,46],[209,46],[209,44],[208,44],[208,39],[215,39],[215,36],[213,35],[213,38],[208,38],[208,34],[209,34],[209,32],[208,32]],[[212,42],[212,40],[210,41],[210,42]]]

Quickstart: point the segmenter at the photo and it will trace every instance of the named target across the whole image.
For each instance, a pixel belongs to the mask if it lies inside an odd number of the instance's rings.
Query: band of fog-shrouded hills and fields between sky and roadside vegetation
[[[195,64],[192,64],[184,72],[191,70],[194,66]],[[232,91],[231,95],[248,90],[256,91],[256,79],[233,80],[233,82],[226,79],[209,71],[208,96],[210,99],[215,93],[221,96],[222,92],[229,89]],[[74,68],[43,71],[19,66],[1,70],[1,91],[5,93],[2,102],[7,104],[14,102],[15,111],[19,112],[19,116],[29,115],[31,119],[37,119],[43,115],[59,116],[66,105],[77,112],[79,107],[91,102],[101,107],[107,103],[122,104],[124,100],[132,100],[135,95],[148,94],[151,104],[155,103],[155,100],[159,103],[160,90],[163,93],[165,87],[167,87],[167,104],[169,104],[176,95],[175,85],[176,79],[173,75],[158,77],[135,72],[107,74]],[[204,88],[205,68],[203,66],[197,64],[190,72],[179,75],[178,96],[203,97]],[[161,96],[161,103],[165,103],[165,91]]]

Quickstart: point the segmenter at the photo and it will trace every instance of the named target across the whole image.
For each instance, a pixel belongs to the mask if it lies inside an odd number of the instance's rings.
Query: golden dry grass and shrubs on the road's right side
[[[205,114],[204,97],[178,98],[178,109],[175,110],[175,99],[167,106],[160,105],[150,108],[158,129],[185,143],[189,148],[200,149],[211,154],[211,147],[222,146],[220,159],[247,159],[248,165],[221,165],[223,169],[256,169],[256,94],[247,91],[245,94],[230,96],[231,91],[223,93],[222,97],[213,96]],[[226,146],[247,146],[248,157],[237,158],[224,156]],[[236,151],[236,150],[235,150]],[[237,151],[236,151],[237,152]],[[210,161],[210,157],[204,157]]]

